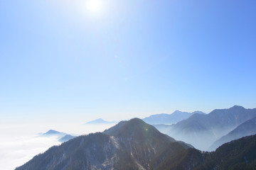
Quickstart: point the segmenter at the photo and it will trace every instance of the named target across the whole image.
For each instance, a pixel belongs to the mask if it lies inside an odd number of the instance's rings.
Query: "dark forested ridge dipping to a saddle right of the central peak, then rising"
[[[162,153],[158,158],[164,159],[156,166],[157,170],[255,170],[256,167],[256,135],[242,137],[228,142],[215,152],[201,152],[197,149],[185,149],[178,154]],[[171,149],[172,151],[172,149]]]

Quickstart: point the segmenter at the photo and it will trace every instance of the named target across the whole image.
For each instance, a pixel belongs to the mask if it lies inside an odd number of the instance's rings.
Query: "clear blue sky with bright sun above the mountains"
[[[256,108],[255,0],[0,1],[0,123]]]

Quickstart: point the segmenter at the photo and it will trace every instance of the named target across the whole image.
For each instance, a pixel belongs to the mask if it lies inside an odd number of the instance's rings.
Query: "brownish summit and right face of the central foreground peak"
[[[139,118],[122,121],[105,130],[104,133],[121,140],[124,147],[132,153],[132,157],[137,159],[139,164],[142,164],[146,169],[151,169],[154,166],[151,160],[156,155],[164,152],[169,145],[178,145],[182,149],[191,147],[191,145],[186,145],[184,142],[176,142],[174,138],[162,134],[152,125],[144,123]]]

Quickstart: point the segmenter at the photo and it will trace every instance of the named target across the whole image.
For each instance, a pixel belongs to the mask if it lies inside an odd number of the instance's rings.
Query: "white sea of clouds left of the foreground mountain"
[[[102,132],[114,124],[44,125],[38,123],[21,125],[0,125],[0,165],[1,169],[13,170],[32,159],[37,154],[46,152],[53,145],[60,145],[58,137],[42,137],[40,133],[57,130],[71,135],[87,135],[90,132]]]

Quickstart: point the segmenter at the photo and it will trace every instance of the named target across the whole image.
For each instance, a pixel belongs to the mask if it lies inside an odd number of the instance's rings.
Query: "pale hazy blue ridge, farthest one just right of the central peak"
[[[151,125],[157,125],[157,124],[165,124],[165,125],[171,125],[174,123],[178,123],[181,120],[185,120],[189,118],[193,114],[206,114],[201,111],[195,111],[193,113],[188,113],[188,112],[181,112],[181,111],[174,111],[174,113],[171,114],[166,114],[166,113],[161,113],[161,114],[156,114],[156,115],[150,115],[147,118],[144,118],[145,123],[149,123]]]

